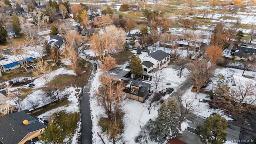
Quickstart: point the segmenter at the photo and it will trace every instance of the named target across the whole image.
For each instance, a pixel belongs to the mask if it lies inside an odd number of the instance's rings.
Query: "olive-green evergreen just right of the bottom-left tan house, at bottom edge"
[[[51,122],[48,127],[45,128],[42,140],[45,144],[52,144],[56,142],[62,142],[62,128],[58,124]]]

